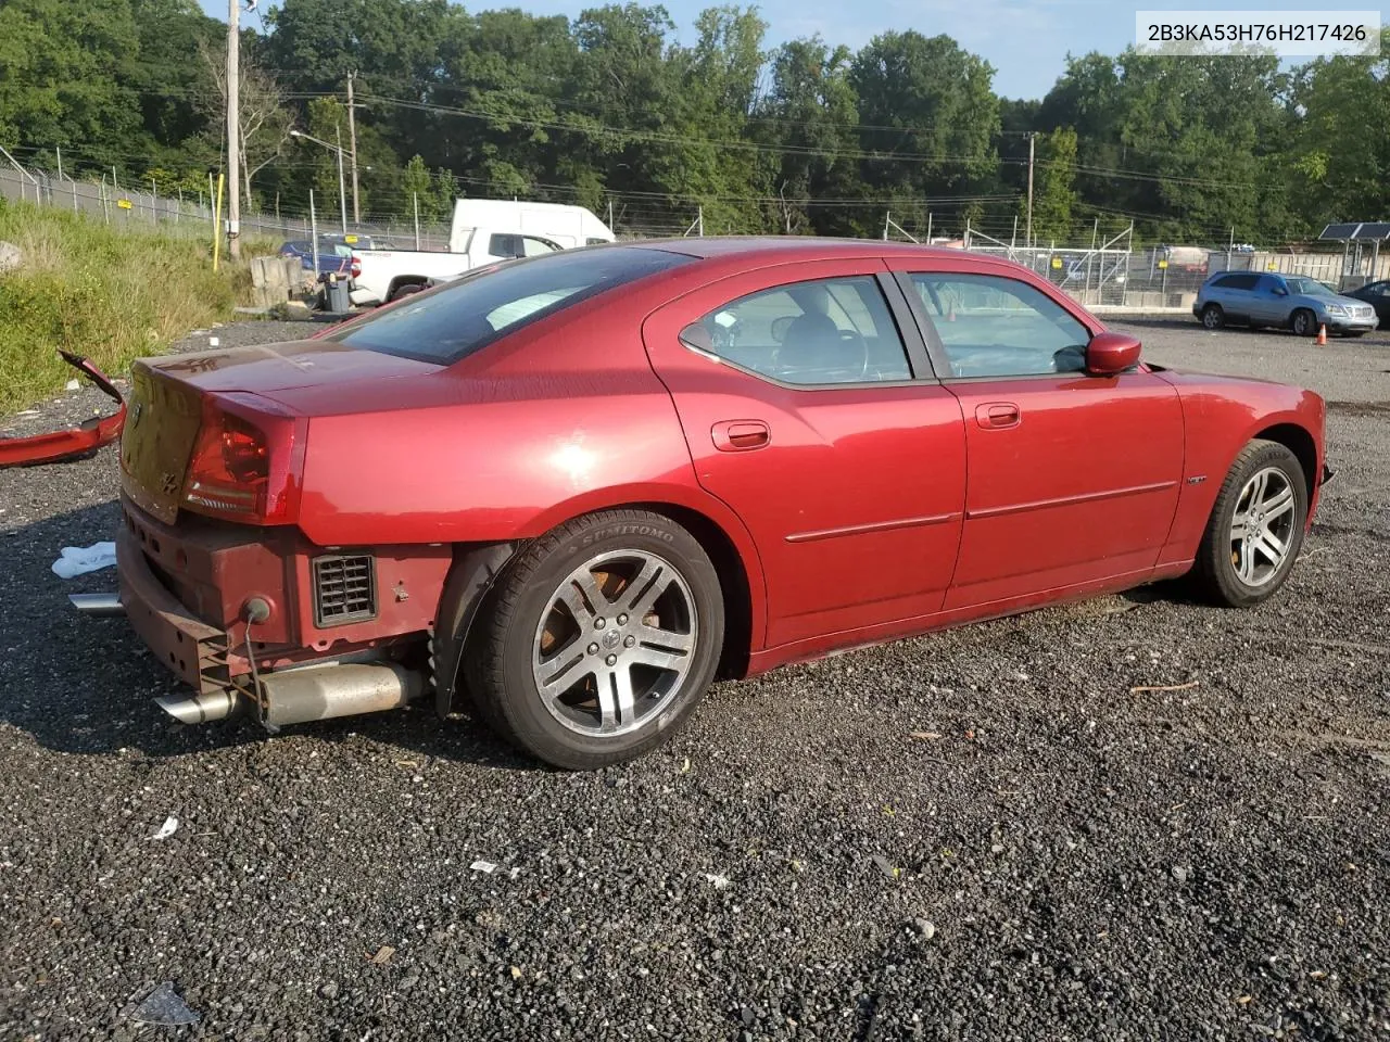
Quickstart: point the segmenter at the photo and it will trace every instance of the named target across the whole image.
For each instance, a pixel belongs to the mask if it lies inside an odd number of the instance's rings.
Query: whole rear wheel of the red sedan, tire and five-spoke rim
[[[570,521],[509,567],[466,679],[481,716],[556,767],[592,770],[656,747],[714,677],[719,575],[667,517],[610,510]]]

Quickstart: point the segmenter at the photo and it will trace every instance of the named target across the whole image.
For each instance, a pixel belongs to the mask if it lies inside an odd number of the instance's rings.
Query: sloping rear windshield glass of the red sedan
[[[550,253],[420,293],[328,339],[449,365],[530,322],[689,261],[624,246]]]

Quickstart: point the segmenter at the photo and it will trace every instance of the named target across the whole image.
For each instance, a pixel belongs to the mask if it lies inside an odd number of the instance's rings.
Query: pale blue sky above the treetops
[[[649,0],[648,0],[649,1]],[[692,33],[696,14],[720,0],[666,0],[681,29]],[[208,14],[227,18],[227,0],[202,0]],[[571,18],[603,0],[495,0],[466,4],[468,10],[521,7],[535,14]],[[274,0],[260,0],[263,8]],[[1327,0],[763,0],[758,4],[769,24],[767,42],[820,33],[830,43],[862,47],[888,29],[916,29],[927,36],[945,33],[979,54],[994,69],[994,90],[1005,97],[1042,97],[1066,68],[1068,54],[1093,50],[1118,54],[1134,42],[1137,10],[1326,10]],[[1343,8],[1376,10],[1372,4],[1339,4]],[[247,24],[259,26],[256,15]]]

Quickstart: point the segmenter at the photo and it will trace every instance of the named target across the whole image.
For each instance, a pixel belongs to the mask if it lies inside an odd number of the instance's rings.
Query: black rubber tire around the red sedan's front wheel
[[[1254,585],[1241,579],[1237,571],[1241,552],[1236,549],[1233,527],[1237,507],[1245,506],[1243,496],[1247,483],[1266,470],[1282,474],[1283,481],[1293,492],[1293,518],[1284,540],[1287,550],[1283,560],[1268,575],[1262,577],[1258,585]],[[1241,515],[1244,513],[1241,511]],[[1216,504],[1212,507],[1211,518],[1207,521],[1207,531],[1202,534],[1191,572],[1195,592],[1204,600],[1222,607],[1251,607],[1268,600],[1284,585],[1294,561],[1298,559],[1307,518],[1308,485],[1298,457],[1277,442],[1252,440],[1230,465],[1226,481],[1222,482],[1216,496]],[[1268,560],[1265,567],[1269,567]]]

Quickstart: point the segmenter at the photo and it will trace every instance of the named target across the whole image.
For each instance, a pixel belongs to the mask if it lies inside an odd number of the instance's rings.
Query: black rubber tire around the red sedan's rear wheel
[[[542,693],[537,668],[543,665],[537,667],[535,663],[545,653],[543,639],[549,634],[546,620],[555,617],[556,597],[566,589],[567,579],[587,563],[620,559],[624,553],[644,554],[648,560],[669,564],[684,584],[681,586],[677,581],[667,579],[676,586],[680,602],[689,602],[689,609],[685,610],[691,615],[688,629],[694,647],[682,659],[685,672],[678,681],[671,681],[673,689],[656,690],[660,685],[653,682],[655,695],[634,699],[631,720],[635,722],[628,727],[635,729],[600,736],[585,734],[582,721],[562,722],[559,714],[571,710],[556,707],[556,699]],[[621,578],[619,584],[623,584]],[[602,593],[609,596],[606,589]],[[588,685],[591,681],[595,685],[600,681],[602,665],[598,659],[582,656],[592,653],[585,649],[599,647],[599,639],[612,639],[619,620],[626,618],[612,613],[621,610],[628,588],[620,585],[613,596],[616,600],[595,607],[594,618],[588,622],[577,621],[578,615],[569,615],[573,634],[564,647],[573,649],[573,661],[580,663],[581,668],[588,668],[589,663],[596,668],[592,677],[582,675],[570,692],[575,699],[584,700],[584,706],[573,710],[575,717],[598,713],[598,699],[592,699],[594,710],[585,707],[591,702],[588,692],[594,690]],[[670,596],[670,588],[664,596]],[[641,599],[639,589],[635,600]],[[657,604],[660,603],[659,600]],[[656,609],[651,611],[655,613]],[[607,624],[603,622],[605,617],[610,620]],[[642,621],[649,617],[644,615]],[[591,625],[592,632],[588,628]],[[575,636],[580,643],[573,643]],[[695,536],[660,514],[606,510],[560,525],[531,543],[507,567],[484,607],[478,631],[464,649],[464,679],[478,716],[502,738],[555,767],[596,770],[642,756],[677,731],[713,681],[723,642],[724,600],[719,575]],[[607,650],[613,650],[616,656],[621,656],[621,647],[614,645],[607,649],[605,645],[596,654],[603,659]],[[635,693],[638,685],[632,682],[631,668],[627,678]],[[648,714],[645,720],[644,713]]]

